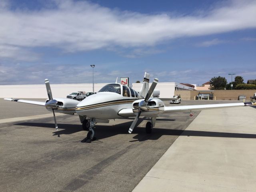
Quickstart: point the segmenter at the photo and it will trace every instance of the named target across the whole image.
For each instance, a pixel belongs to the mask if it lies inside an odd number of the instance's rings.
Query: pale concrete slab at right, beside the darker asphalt
[[[133,192],[256,191],[256,108],[202,111]]]

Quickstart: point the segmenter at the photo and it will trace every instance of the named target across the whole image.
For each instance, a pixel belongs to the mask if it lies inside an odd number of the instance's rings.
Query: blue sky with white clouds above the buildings
[[[0,84],[256,79],[256,0],[1,0]],[[236,76],[235,75],[235,76]]]

